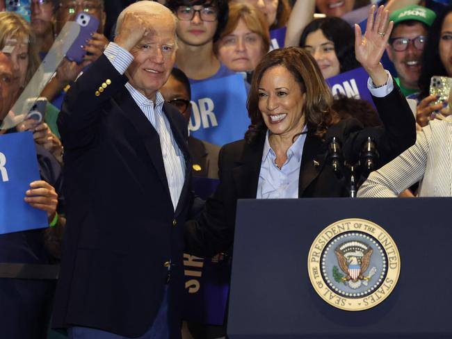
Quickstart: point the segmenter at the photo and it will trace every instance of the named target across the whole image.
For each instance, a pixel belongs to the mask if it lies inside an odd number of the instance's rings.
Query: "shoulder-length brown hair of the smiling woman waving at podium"
[[[322,136],[329,126],[339,121],[339,116],[331,108],[331,90],[325,83],[316,60],[300,47],[275,49],[262,58],[252,76],[247,102],[251,125],[245,133],[248,144],[266,133],[267,126],[259,110],[259,83],[264,73],[275,66],[285,67],[300,85],[302,93],[306,93],[302,110],[308,133]]]

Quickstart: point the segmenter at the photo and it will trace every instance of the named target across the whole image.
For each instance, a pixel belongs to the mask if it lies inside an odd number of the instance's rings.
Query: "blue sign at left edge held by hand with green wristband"
[[[47,214],[24,201],[36,180],[40,176],[33,134],[0,135],[0,234],[49,226]]]

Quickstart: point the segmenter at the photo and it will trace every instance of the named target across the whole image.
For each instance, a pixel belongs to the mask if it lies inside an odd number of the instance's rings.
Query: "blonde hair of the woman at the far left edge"
[[[29,55],[29,67],[26,69],[25,85],[30,81],[36,69],[40,64],[40,58],[38,56],[38,50],[36,49],[35,34],[31,30],[31,26],[26,20],[19,14],[13,12],[1,12],[0,13],[0,50],[6,45],[6,41],[9,39],[15,39],[19,41],[28,41],[28,55]]]

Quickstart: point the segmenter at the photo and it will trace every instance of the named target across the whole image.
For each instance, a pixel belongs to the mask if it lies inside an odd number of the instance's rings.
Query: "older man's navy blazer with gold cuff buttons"
[[[181,226],[191,186],[186,121],[164,104],[186,162],[174,211],[159,135],[125,83],[127,77],[101,56],[67,92],[58,117],[67,226],[53,326],[143,335],[161,304],[170,263],[169,313],[177,338],[184,288]]]

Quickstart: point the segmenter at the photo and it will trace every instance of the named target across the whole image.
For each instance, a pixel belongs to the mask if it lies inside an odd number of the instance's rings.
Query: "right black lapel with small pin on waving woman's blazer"
[[[319,150],[323,149],[322,144],[323,141],[318,136],[310,133],[306,135],[298,179],[298,197],[303,196],[306,188],[316,179],[325,165],[325,152],[318,153]]]

